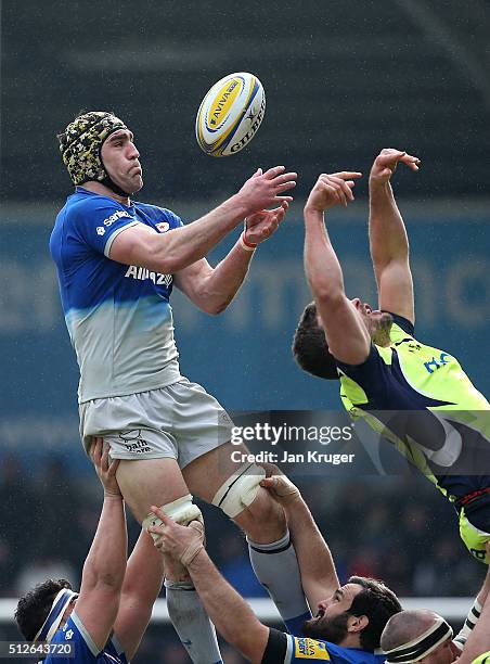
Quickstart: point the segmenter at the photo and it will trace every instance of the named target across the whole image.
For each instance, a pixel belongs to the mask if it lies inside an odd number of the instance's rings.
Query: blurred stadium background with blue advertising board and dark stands
[[[490,394],[487,0],[1,0],[0,17],[1,597],[51,573],[78,583],[99,514],[48,253],[54,215],[70,192],[55,135],[80,110],[126,119],[145,169],[142,200],[185,221],[258,166],[299,174],[297,204],[257,252],[229,311],[210,318],[175,294],[182,371],[228,408],[339,408],[336,386],[301,374],[291,358],[309,299],[301,203],[320,171],[368,175],[384,146],[423,161],[418,175],[400,168],[395,178],[411,238],[417,334],[453,352]],[[194,140],[195,113],[210,85],[234,71],[261,79],[266,118],[246,151],[211,159]],[[332,234],[348,292],[370,301],[366,178],[356,189],[356,203],[332,214]],[[224,242],[211,259],[225,250]],[[343,578],[381,576],[421,602],[447,597],[441,613],[450,597],[476,593],[483,567],[465,553],[451,508],[424,478],[310,477],[302,486]],[[221,514],[206,515],[212,557],[244,595],[259,597],[243,538]],[[0,639],[14,636],[3,620]],[[224,660],[242,661],[227,650]],[[188,661],[159,623],[134,659]]]

